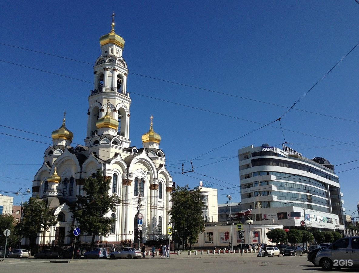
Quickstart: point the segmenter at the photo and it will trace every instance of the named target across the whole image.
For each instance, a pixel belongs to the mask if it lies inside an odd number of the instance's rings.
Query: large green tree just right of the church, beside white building
[[[177,230],[177,245],[180,246],[180,239],[183,240],[183,250],[187,248],[187,240],[191,244],[197,240],[199,233],[204,232],[204,219],[202,208],[202,195],[199,189],[191,191],[186,185],[172,191],[172,208],[168,211],[171,215],[171,224]]]

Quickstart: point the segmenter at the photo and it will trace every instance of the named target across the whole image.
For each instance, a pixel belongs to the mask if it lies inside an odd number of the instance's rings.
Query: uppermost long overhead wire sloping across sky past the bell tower
[[[5,43],[0,43],[0,45],[9,46],[9,47],[14,47],[14,48],[19,48],[19,49],[22,49],[22,50],[28,50],[28,51],[32,51],[32,52],[36,52],[36,53],[40,53],[40,54],[45,54],[45,55],[49,55],[49,56],[53,56],[53,57],[58,57],[58,58],[65,59],[65,60],[75,61],[75,62],[78,62],[78,63],[89,64],[89,65],[92,65],[92,66],[94,65],[93,63],[87,63],[87,62],[84,62],[84,61],[79,61],[79,60],[75,60],[75,59],[71,59],[71,58],[67,58],[67,57],[62,57],[62,56],[59,56],[59,55],[49,54],[49,53],[45,53],[45,52],[41,52],[41,51],[37,51],[37,50],[31,50],[31,49],[28,49],[28,48],[23,48],[23,47],[18,47],[18,46],[7,45],[7,44],[5,44]],[[355,48],[355,47],[354,47],[354,48]],[[349,52],[349,53],[350,53],[350,52]],[[349,53],[348,53],[348,54],[349,54]],[[347,55],[348,55],[348,54],[347,54]],[[2,60],[0,60],[0,61],[2,61]],[[334,67],[333,67],[333,68],[334,68]],[[42,70],[41,70],[41,71],[42,71]],[[181,86],[184,86],[184,87],[190,87],[190,88],[195,88],[195,89],[199,89],[199,90],[203,90],[203,91],[213,92],[213,93],[217,93],[217,94],[221,94],[221,95],[225,95],[225,96],[241,98],[241,99],[243,99],[243,100],[249,100],[249,101],[253,101],[253,102],[265,103],[265,104],[268,104],[268,105],[273,105],[273,106],[278,106],[278,107],[284,107],[284,108],[289,108],[289,109],[293,107],[293,106],[292,106],[292,107],[288,107],[288,106],[284,106],[284,105],[278,105],[278,104],[270,103],[270,102],[266,102],[266,101],[254,100],[254,99],[251,99],[251,98],[246,98],[246,97],[241,97],[241,96],[237,96],[237,95],[233,95],[233,94],[228,94],[228,93],[224,93],[224,92],[214,91],[214,90],[211,90],[211,89],[201,88],[201,87],[197,87],[197,86],[194,86],[194,85],[177,83],[177,82],[173,82],[173,81],[170,81],[170,80],[164,80],[164,79],[160,79],[160,78],[150,77],[150,76],[141,75],[141,74],[137,74],[137,73],[133,73],[133,72],[129,72],[129,74],[136,75],[136,76],[140,76],[140,77],[144,77],[144,78],[159,80],[159,81],[162,81],[162,82],[177,84],[177,85],[181,85]],[[66,77],[66,76],[64,76],[64,77]],[[309,91],[310,91],[310,90],[309,90]],[[344,119],[344,118],[341,118],[341,117],[335,117],[335,116],[320,114],[320,113],[316,113],[316,112],[301,110],[301,109],[298,109],[298,108],[293,108],[293,110],[302,111],[302,112],[307,112],[307,113],[315,114],[315,115],[321,115],[321,116],[331,117],[331,118],[334,118],[334,119],[341,119],[341,120],[346,120],[346,121],[351,121],[351,122],[359,123],[359,121],[355,121],[355,120],[349,120],[349,119]]]

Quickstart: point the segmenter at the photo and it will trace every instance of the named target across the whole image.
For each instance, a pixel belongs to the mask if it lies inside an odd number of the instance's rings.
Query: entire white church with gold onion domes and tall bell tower
[[[101,56],[94,65],[94,89],[88,97],[87,133],[85,145],[71,146],[73,133],[65,126],[52,132],[53,145],[44,154],[44,162],[34,175],[33,196],[47,202],[59,215],[59,222],[49,232],[38,235],[38,244],[55,241],[71,243],[66,236],[73,228],[69,205],[76,195],[85,195],[82,185],[98,169],[111,177],[108,194],[121,197],[115,212],[107,217],[115,219],[109,231],[108,242],[125,242],[140,234],[141,242],[158,240],[167,234],[170,221],[172,177],[165,168],[165,155],[159,149],[161,137],[153,130],[142,136],[143,147],[131,146],[130,105],[127,88],[127,64],[122,58],[125,44],[114,30],[100,38]],[[139,137],[137,138],[139,139]],[[143,228],[139,230],[138,199],[141,195],[140,213]],[[80,241],[92,240],[92,236],[80,236]],[[98,237],[96,240],[106,240]]]

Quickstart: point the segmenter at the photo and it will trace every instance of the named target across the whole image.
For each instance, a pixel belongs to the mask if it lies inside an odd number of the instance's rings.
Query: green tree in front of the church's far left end
[[[44,200],[31,197],[29,202],[23,204],[23,217],[16,225],[21,237],[29,238],[30,248],[36,244],[38,233],[48,231],[51,226],[57,224],[57,216],[53,215],[53,210],[46,207]],[[20,238],[21,239],[21,238]]]

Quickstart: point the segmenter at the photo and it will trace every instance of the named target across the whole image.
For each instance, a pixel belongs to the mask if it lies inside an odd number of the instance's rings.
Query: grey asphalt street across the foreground
[[[43,260],[5,259],[0,272],[323,272],[307,261],[307,256],[257,257],[254,253],[203,254],[188,256],[171,254],[171,258],[99,259],[99,260]],[[358,269],[340,269],[331,272],[358,272]]]

